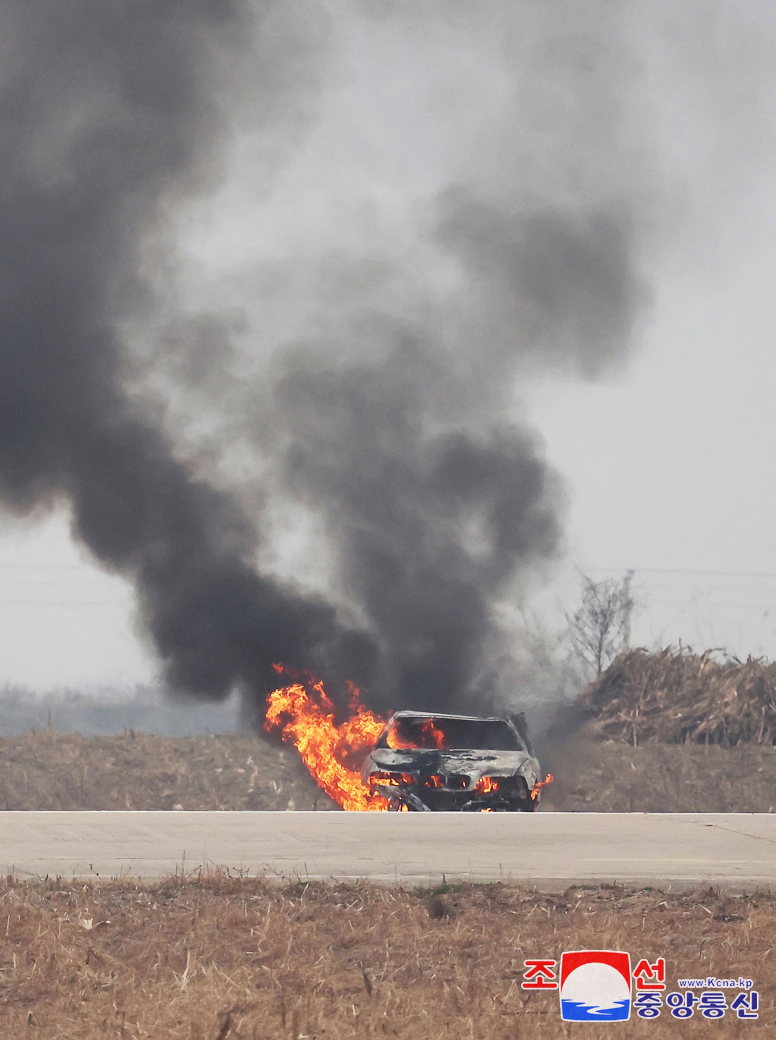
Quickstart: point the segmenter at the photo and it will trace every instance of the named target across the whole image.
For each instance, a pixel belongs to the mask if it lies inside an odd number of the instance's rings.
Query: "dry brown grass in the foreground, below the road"
[[[600,1040],[617,1028],[564,1025],[557,994],[526,998],[520,982],[526,957],[603,947],[665,956],[670,988],[677,976],[741,974],[760,992],[757,1022],[729,1012],[678,1022],[664,1011],[631,1021],[627,1036],[744,1037],[774,1029],[775,930],[775,898],[714,890],[9,880],[0,885],[0,1035]]]

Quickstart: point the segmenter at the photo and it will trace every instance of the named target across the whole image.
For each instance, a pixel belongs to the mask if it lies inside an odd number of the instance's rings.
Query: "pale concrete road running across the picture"
[[[0,870],[776,887],[776,814],[0,812]]]

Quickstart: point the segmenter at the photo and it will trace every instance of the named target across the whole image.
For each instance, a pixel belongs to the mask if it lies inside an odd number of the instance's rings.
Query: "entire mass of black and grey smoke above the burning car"
[[[622,364],[650,298],[652,10],[7,0],[0,495],[71,504],[174,686],[260,700],[282,660],[380,707],[508,699],[483,685],[497,604],[562,550],[564,510],[521,381]],[[269,208],[284,177],[289,224],[294,185],[314,201],[233,280],[253,327],[170,295],[175,211],[215,190],[230,119]],[[240,350],[256,379],[230,380]],[[186,461],[154,379],[217,417],[216,456],[253,453],[259,491]],[[322,523],[326,595],[258,569],[263,500]]]

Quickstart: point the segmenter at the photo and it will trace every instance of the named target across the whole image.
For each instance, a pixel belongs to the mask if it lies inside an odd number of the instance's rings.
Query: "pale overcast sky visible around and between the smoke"
[[[313,260],[376,239],[392,260],[406,257],[408,278],[422,268],[418,200],[455,181],[481,126],[509,105],[488,32],[461,34],[457,52],[452,30],[416,35],[411,19],[372,22],[356,17],[359,6],[329,5],[336,60],[299,118],[292,153],[281,135],[273,170],[271,135],[250,135],[243,120],[224,188],[179,224],[178,290],[239,309],[240,349],[257,363],[267,342],[316,320]],[[575,568],[594,578],[633,569],[635,641],[776,655],[776,21],[765,0],[724,6],[710,4],[708,33],[694,37],[705,4],[688,4],[684,24],[672,4],[635,5],[635,141],[664,200],[641,256],[651,302],[630,348],[594,380],[559,366],[526,370],[516,388],[515,415],[539,431],[567,498],[564,551],[525,602],[552,628],[559,600],[573,606]],[[485,5],[485,17],[497,7]],[[278,258],[298,282],[273,282]],[[433,270],[430,284],[445,277]],[[3,520],[0,682],[152,678],[131,587],[69,531],[64,505]],[[276,549],[286,571],[302,568],[315,584],[314,551],[282,538]]]

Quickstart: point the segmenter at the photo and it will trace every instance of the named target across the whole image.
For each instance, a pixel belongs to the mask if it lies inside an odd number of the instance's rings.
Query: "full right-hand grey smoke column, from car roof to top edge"
[[[449,168],[415,199],[398,256],[376,236],[322,254],[317,278],[309,258],[271,268],[273,291],[280,269],[298,307],[315,300],[325,334],[279,339],[271,392],[252,399],[257,441],[276,487],[326,519],[343,595],[376,633],[380,704],[514,698],[502,669],[508,660],[497,604],[562,550],[564,512],[541,439],[515,420],[519,381],[620,363],[649,300],[651,175],[625,154],[635,72],[599,7],[381,7],[363,60],[400,53],[432,98],[413,99],[417,119],[451,140]],[[483,84],[474,155],[456,140],[465,87],[444,74],[467,54],[481,73],[493,63],[501,95],[489,113]]]

